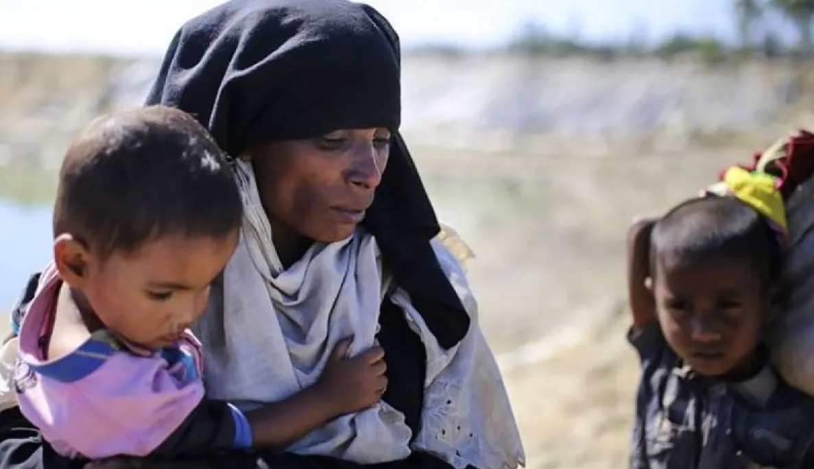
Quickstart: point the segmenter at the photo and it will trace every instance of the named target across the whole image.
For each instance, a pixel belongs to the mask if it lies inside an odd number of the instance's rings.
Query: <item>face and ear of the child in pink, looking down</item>
[[[55,257],[63,279],[106,328],[157,350],[177,341],[203,314],[209,284],[234,253],[238,236],[235,231],[222,239],[161,237],[132,254],[117,252],[105,259],[73,245],[62,254],[57,247]],[[63,273],[66,268],[70,271]]]

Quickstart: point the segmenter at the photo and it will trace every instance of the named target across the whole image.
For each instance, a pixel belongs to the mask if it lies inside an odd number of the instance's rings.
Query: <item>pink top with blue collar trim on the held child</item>
[[[43,344],[61,284],[55,267],[47,267],[20,327],[20,410],[60,454],[150,454],[204,397],[199,342],[187,333],[174,347],[144,354],[98,331],[71,354],[48,360]]]

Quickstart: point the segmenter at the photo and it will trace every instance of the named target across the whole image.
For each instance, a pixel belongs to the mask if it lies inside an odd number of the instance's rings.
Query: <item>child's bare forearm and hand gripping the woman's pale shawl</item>
[[[247,412],[252,446],[284,449],[339,415],[374,405],[387,388],[384,351],[374,347],[344,358],[349,340],[336,345],[322,376],[309,388]]]

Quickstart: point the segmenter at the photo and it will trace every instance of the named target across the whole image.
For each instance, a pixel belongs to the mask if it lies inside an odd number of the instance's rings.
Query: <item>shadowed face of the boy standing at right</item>
[[[771,312],[770,292],[746,259],[656,265],[654,297],[664,337],[703,376],[737,376],[755,365]]]

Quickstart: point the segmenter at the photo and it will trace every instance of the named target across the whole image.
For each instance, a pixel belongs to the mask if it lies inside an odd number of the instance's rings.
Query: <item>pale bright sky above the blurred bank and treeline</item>
[[[732,0],[368,0],[405,46],[492,46],[534,19],[585,39],[653,40],[677,30],[733,36]],[[0,47],[160,54],[187,18],[217,0],[0,0]]]

